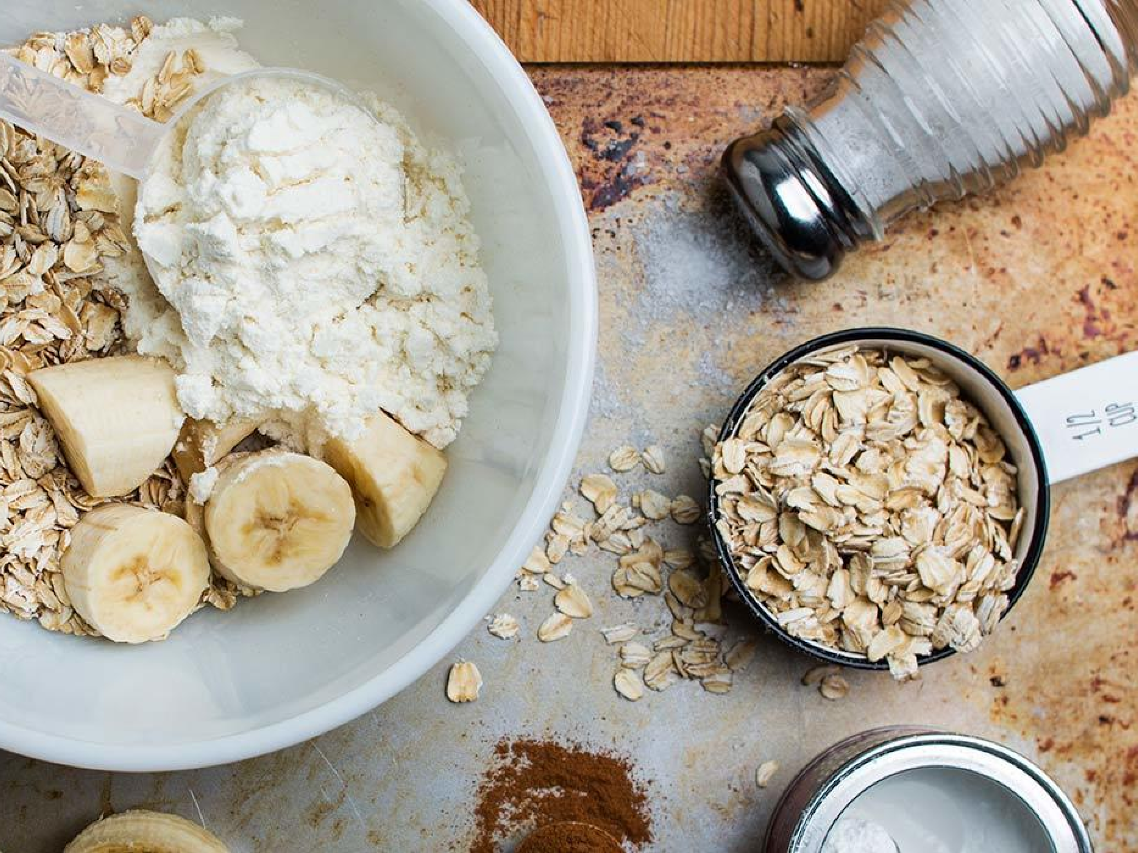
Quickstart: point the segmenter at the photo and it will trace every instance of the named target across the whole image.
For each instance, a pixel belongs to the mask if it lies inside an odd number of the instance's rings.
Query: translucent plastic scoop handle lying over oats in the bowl
[[[0,118],[139,179],[165,126],[0,52]]]

